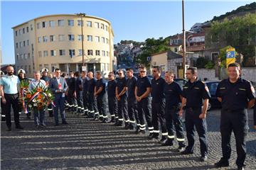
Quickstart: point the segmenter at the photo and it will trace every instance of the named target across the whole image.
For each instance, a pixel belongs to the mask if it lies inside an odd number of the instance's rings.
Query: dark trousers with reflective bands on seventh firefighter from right
[[[129,116],[127,111],[127,96],[121,96],[120,101],[117,101],[118,120],[129,123]]]

